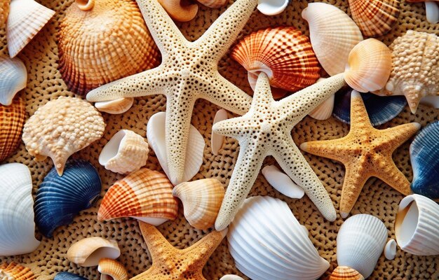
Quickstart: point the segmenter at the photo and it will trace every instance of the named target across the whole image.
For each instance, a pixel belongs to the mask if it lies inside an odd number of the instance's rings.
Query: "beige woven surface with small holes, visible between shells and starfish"
[[[72,0],[43,0],[43,5],[48,6],[56,11],[53,20],[27,45],[18,57],[25,62],[28,71],[28,84],[25,92],[20,93],[26,100],[27,117],[38,109],[39,106],[46,104],[48,100],[55,99],[62,95],[74,96],[72,92],[67,90],[64,81],[61,79],[58,69],[58,48],[56,45],[56,34],[60,20],[64,16],[65,9],[72,3]],[[242,35],[249,34],[251,31],[261,29],[263,27],[274,27],[278,25],[294,25],[305,34],[307,25],[302,20],[300,13],[306,7],[306,1],[293,1],[281,15],[267,17],[255,11],[252,18],[245,26]],[[331,0],[342,10],[347,11],[347,0]],[[425,11],[423,3],[405,3],[403,0],[402,11],[399,22],[393,28],[390,34],[381,38],[384,43],[388,44],[393,41],[396,36],[404,34],[407,29],[415,29],[418,31],[427,31],[439,35],[439,25],[430,25],[425,20]],[[197,17],[191,22],[180,24],[184,36],[189,39],[198,38],[203,31],[219,16],[222,9],[201,8]],[[0,31],[0,53],[6,54],[6,37],[4,27]],[[250,92],[247,83],[247,75],[245,71],[236,62],[231,61],[229,57],[224,57],[219,65],[220,72],[227,79],[234,82],[238,87]],[[133,130],[142,136],[145,136],[146,124],[149,118],[158,111],[166,109],[166,100],[162,96],[135,99],[135,104],[130,111],[123,115],[110,116],[104,114],[107,128],[104,137],[96,141],[88,148],[76,153],[74,158],[83,158],[93,163],[99,170],[102,179],[102,195],[105,190],[111,186],[114,181],[121,179],[121,175],[114,174],[105,170],[97,162],[100,150],[112,137],[114,133],[121,129]],[[194,114],[192,116],[192,124],[198,128],[205,138],[206,148],[203,166],[194,179],[216,178],[227,185],[234,162],[238,155],[238,144],[233,139],[227,139],[226,144],[219,155],[214,156],[210,151],[210,132],[212,128],[212,120],[215,112],[219,108],[204,100],[196,103]],[[420,106],[415,115],[412,115],[408,108],[400,113],[396,119],[390,123],[381,125],[381,127],[389,127],[416,121],[425,126],[433,120],[438,120],[439,110],[430,109],[426,106]],[[349,131],[349,126],[340,123],[335,118],[325,121],[312,120],[306,117],[302,123],[299,123],[292,132],[293,138],[297,144],[304,141],[314,139],[334,139],[344,136]],[[408,155],[410,141],[398,148],[393,157],[396,165],[412,180],[412,170],[410,167],[410,158]],[[341,193],[344,167],[337,162],[318,158],[311,155],[305,155],[311,166],[316,171],[324,186],[330,193],[335,208],[338,211],[339,196]],[[5,162],[22,162],[32,171],[34,180],[34,194],[43,181],[44,176],[53,166],[50,160],[36,163],[28,155],[24,144],[20,145],[18,151]],[[272,158],[265,160],[264,165],[273,163]],[[160,170],[158,161],[154,152],[150,152],[147,167],[150,169]],[[336,266],[336,242],[337,230],[343,221],[338,218],[334,223],[324,221],[322,216],[316,211],[316,207],[311,204],[307,197],[302,200],[292,200],[273,190],[265,181],[262,175],[259,175],[255,186],[250,195],[271,195],[288,202],[292,212],[295,214],[300,223],[309,230],[309,235],[313,244],[318,248],[320,255],[331,262],[329,271]],[[356,203],[351,214],[367,213],[381,218],[389,230],[389,238],[394,238],[393,223],[395,220],[398,202],[403,198],[395,190],[391,189],[385,183],[377,179],[367,181],[358,202]],[[54,237],[47,239],[36,232],[36,237],[41,239],[41,246],[27,255],[15,257],[2,257],[0,262],[16,261],[32,267],[39,279],[53,279],[55,274],[60,271],[76,272],[88,279],[98,279],[96,267],[78,267],[65,258],[65,254],[69,246],[76,240],[83,237],[101,236],[116,239],[121,247],[121,257],[119,260],[126,265],[128,274],[134,276],[143,272],[151,265],[151,259],[147,251],[146,245],[140,235],[137,221],[130,218],[116,219],[110,222],[99,223],[96,219],[97,207],[81,212],[76,216],[74,222],[68,226],[63,226],[55,230]],[[203,237],[206,232],[191,228],[189,223],[184,220],[182,209],[176,221],[167,222],[159,227],[159,230],[166,235],[168,240],[179,248],[184,248],[193,244],[195,241]],[[323,278],[329,275],[329,271]],[[234,260],[231,258],[227,250],[227,242],[224,240],[217,248],[212,258],[205,266],[204,275],[207,279],[219,279],[223,274],[241,274],[234,267]],[[242,276],[242,274],[241,274]],[[370,279],[439,279],[439,257],[417,257],[404,253],[398,249],[395,260],[386,260],[384,256],[379,259],[374,274]]]

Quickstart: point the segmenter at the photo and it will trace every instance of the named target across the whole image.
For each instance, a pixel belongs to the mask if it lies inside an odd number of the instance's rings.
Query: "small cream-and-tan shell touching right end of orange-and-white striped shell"
[[[183,203],[184,218],[198,230],[215,225],[225,192],[217,179],[180,183],[173,189],[173,195]]]

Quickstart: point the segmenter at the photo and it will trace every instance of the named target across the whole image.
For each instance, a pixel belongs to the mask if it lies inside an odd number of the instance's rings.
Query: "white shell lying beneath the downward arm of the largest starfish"
[[[151,116],[151,118],[149,118],[147,124],[147,139],[152,151],[156,153],[157,160],[158,162],[160,162],[161,168],[163,168],[163,172],[166,173],[168,178],[171,178],[171,176],[169,176],[168,169],[168,156],[166,155],[165,120],[165,112],[155,113],[153,116]],[[191,128],[189,130],[189,140],[187,141],[187,143],[187,155],[190,156],[187,156],[186,161],[184,162],[184,182],[192,179],[192,177],[194,177],[198,173],[201,165],[203,164],[205,143],[203,136],[200,132],[198,132],[194,125],[191,125]],[[177,181],[171,182],[174,185],[177,185],[179,183]]]

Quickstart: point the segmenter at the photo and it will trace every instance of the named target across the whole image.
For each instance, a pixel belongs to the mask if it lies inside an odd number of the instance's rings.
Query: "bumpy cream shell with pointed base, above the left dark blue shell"
[[[62,176],[70,155],[100,139],[104,129],[104,119],[90,103],[59,97],[36,110],[27,120],[22,138],[35,161],[52,158]]]

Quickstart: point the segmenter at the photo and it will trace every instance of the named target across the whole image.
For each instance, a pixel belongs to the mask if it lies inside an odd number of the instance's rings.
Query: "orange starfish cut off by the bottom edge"
[[[203,267],[227,234],[227,229],[210,232],[196,244],[180,250],[169,244],[154,225],[143,222],[139,225],[151,253],[152,266],[130,280],[205,280]]]

